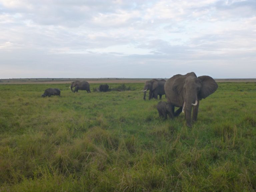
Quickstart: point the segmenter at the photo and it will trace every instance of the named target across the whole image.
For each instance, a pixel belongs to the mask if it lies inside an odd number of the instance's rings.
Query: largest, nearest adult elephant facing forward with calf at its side
[[[210,76],[197,77],[194,72],[186,75],[174,75],[164,85],[166,98],[172,107],[171,117],[185,112],[186,124],[192,126],[192,121],[197,120],[199,101],[214,93],[218,88],[217,83]],[[174,107],[179,109],[174,112]]]

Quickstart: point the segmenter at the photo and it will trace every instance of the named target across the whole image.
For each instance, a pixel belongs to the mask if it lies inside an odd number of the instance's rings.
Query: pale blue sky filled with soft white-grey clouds
[[[0,0],[0,79],[256,78],[256,0]]]

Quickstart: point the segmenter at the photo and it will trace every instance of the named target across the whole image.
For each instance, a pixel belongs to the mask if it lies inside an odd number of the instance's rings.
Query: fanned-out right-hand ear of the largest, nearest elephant
[[[202,81],[202,87],[198,95],[200,100],[205,99],[217,90],[218,84],[212,77],[204,75],[198,78]]]

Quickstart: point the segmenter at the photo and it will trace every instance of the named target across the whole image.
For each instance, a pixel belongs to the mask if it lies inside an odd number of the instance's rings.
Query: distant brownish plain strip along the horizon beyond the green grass
[[[89,83],[144,83],[151,78],[31,78],[0,79],[0,84],[63,84],[72,81],[88,81]],[[160,79],[160,78],[157,78]],[[167,80],[167,79],[166,79]],[[248,79],[215,79],[216,82],[256,82],[256,78]]]

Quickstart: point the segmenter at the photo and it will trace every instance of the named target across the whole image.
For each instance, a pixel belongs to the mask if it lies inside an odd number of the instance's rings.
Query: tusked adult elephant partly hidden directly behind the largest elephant
[[[149,90],[148,99],[151,99],[151,98],[157,99],[158,95],[159,95],[159,98],[161,99],[162,95],[165,95],[165,92],[164,92],[165,82],[166,81],[164,79],[161,79],[161,80],[151,79],[151,80],[146,81],[145,85],[144,85],[144,89],[143,89],[143,92],[144,92],[143,99],[146,99],[147,90]]]

